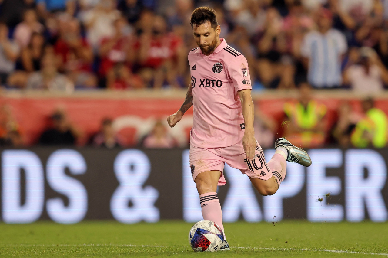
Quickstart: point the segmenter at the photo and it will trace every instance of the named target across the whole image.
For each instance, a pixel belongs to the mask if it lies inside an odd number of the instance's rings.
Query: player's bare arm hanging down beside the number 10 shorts
[[[253,160],[256,149],[255,131],[253,130],[253,119],[255,117],[255,108],[253,107],[253,101],[250,89],[242,89],[238,91],[241,107],[242,116],[244,117],[245,129],[244,136],[242,137],[242,146],[246,153],[248,160]]]

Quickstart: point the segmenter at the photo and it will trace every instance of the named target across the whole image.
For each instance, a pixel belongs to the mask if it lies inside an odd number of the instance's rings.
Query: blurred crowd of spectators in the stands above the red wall
[[[388,84],[388,0],[0,0],[0,83],[186,88],[201,5],[247,58],[253,89]]]

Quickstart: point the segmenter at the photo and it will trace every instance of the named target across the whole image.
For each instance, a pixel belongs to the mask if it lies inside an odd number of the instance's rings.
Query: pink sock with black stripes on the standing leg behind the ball
[[[222,211],[220,201],[216,192],[204,193],[199,196],[201,202],[202,217],[204,220],[210,220],[217,223],[223,232]],[[225,232],[224,232],[225,236]]]

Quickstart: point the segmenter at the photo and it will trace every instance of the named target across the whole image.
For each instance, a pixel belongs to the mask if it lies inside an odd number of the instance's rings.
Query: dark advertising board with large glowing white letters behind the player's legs
[[[202,219],[187,149],[29,148],[1,150],[1,218],[5,223],[115,219],[123,223]],[[267,160],[274,150],[265,150]],[[388,149],[312,149],[312,166],[288,163],[273,196],[260,196],[245,175],[225,166],[218,197],[233,222],[388,219]]]

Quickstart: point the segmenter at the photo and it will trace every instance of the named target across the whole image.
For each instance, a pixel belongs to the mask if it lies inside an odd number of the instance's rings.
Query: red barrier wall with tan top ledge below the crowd
[[[0,105],[7,105],[13,114],[19,130],[27,145],[36,143],[42,131],[48,126],[52,112],[61,108],[66,111],[69,121],[76,126],[84,137],[78,144],[84,145],[90,136],[100,129],[102,119],[110,117],[113,126],[123,139],[125,146],[136,143],[151,131],[157,119],[166,120],[182,105],[186,90],[141,90],[141,91],[77,91],[71,95],[46,91],[3,91]],[[265,115],[279,122],[281,134],[283,105],[286,101],[298,98],[298,91],[266,90],[252,92],[255,107]],[[354,110],[360,110],[360,98],[350,91],[315,91],[314,97],[327,107],[327,129],[337,118],[336,110],[348,101]],[[379,93],[376,106],[388,114],[388,93]],[[256,105],[257,104],[257,105]],[[187,110],[183,119],[174,128],[169,128],[179,141],[180,146],[188,142],[192,127],[192,108]]]

